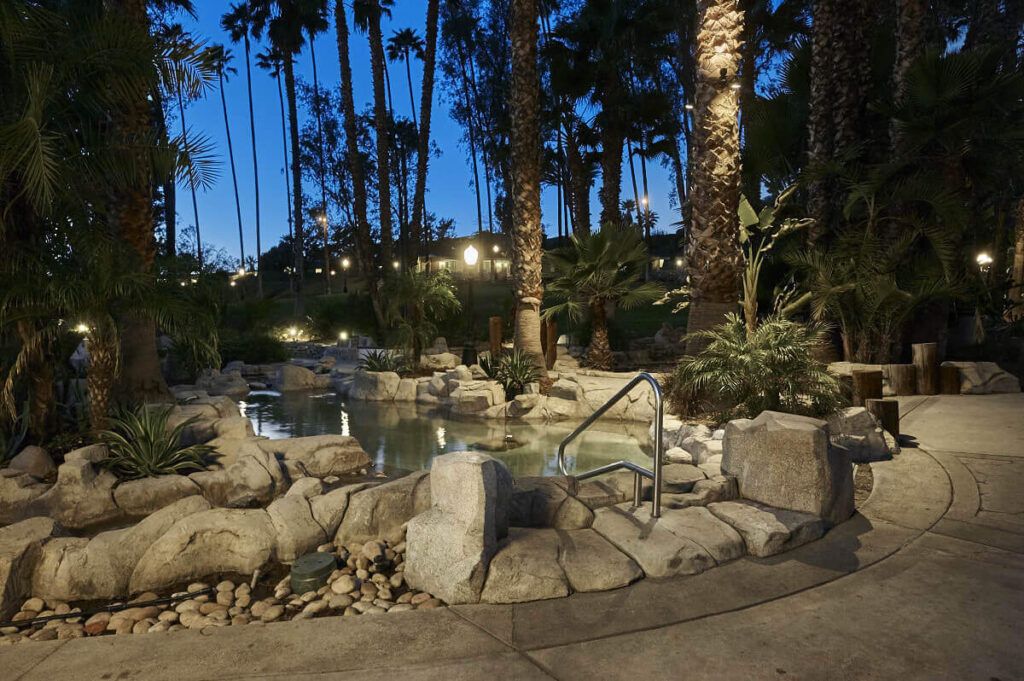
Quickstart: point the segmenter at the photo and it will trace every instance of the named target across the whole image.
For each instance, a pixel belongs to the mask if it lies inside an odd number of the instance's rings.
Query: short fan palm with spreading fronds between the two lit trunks
[[[606,222],[595,233],[573,235],[569,246],[552,251],[550,257],[555,276],[548,295],[558,302],[545,309],[544,316],[564,313],[578,322],[589,312],[593,334],[587,364],[610,370],[608,306],[630,309],[652,303],[664,293],[660,285],[643,281],[647,247],[640,232],[633,225]]]

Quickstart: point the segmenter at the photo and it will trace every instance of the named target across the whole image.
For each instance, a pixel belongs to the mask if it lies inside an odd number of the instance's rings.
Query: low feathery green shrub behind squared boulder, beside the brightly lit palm
[[[826,330],[779,316],[748,332],[743,321],[727,321],[691,337],[708,341],[670,375],[666,391],[675,411],[715,412],[723,418],[757,416],[764,410],[825,416],[844,405],[839,380],[814,352]]]

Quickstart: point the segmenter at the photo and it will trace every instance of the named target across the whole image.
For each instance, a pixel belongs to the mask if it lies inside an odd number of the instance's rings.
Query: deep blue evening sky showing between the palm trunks
[[[333,3],[332,3],[333,4]],[[234,55],[238,74],[226,84],[227,113],[231,124],[231,141],[234,146],[234,162],[239,175],[239,191],[242,197],[242,219],[246,237],[246,253],[252,254],[255,246],[255,195],[253,190],[252,154],[249,145],[249,114],[246,99],[244,48],[230,44],[226,33],[220,29],[220,16],[227,11],[227,0],[196,2],[197,17],[186,14],[179,17],[181,24],[198,38],[226,45]],[[352,29],[351,7],[349,6],[349,30]],[[340,82],[338,69],[338,48],[335,41],[333,11],[330,30],[317,36],[316,69],[325,86],[337,87]],[[385,40],[392,32],[413,28],[421,36],[425,33],[426,2],[424,0],[397,0],[390,20],[383,26]],[[253,53],[263,49],[254,45]],[[355,90],[355,108],[361,111],[373,99],[372,76],[370,71],[370,49],[367,37],[352,32],[350,38],[352,76]],[[416,92],[417,109],[420,98],[421,66],[413,65],[413,88]],[[401,115],[409,116],[409,95],[406,85],[404,68],[400,63],[389,66],[392,80],[394,105]],[[312,67],[308,45],[299,55],[296,75],[306,82],[312,82]],[[438,78],[440,76],[438,69]],[[281,138],[281,113],[278,102],[276,81],[269,74],[253,65],[253,98],[255,101],[256,143],[259,154],[260,208],[262,222],[262,243],[264,251],[288,233],[288,202],[285,196],[284,150]],[[176,111],[176,110],[175,110]],[[419,112],[417,112],[419,113]],[[199,211],[203,243],[208,248],[221,247],[232,257],[238,257],[238,223],[234,215],[234,198],[231,191],[230,169],[227,163],[227,138],[220,107],[220,94],[216,89],[207,96],[188,105],[185,114],[188,127],[196,133],[206,135],[215,144],[221,158],[220,174],[213,187],[200,190]],[[307,113],[299,109],[300,125]],[[476,230],[476,202],[473,193],[472,167],[468,153],[461,142],[462,128],[449,116],[447,92],[442,83],[435,81],[434,111],[431,124],[431,138],[441,151],[440,157],[431,158],[427,180],[427,204],[429,210],[438,217],[451,217],[456,222],[458,235],[468,235]],[[173,131],[179,125],[176,117],[169,122]],[[679,211],[670,203],[672,177],[659,163],[648,163],[648,186],[650,205],[658,216],[660,229],[669,229],[672,222],[679,219]],[[480,170],[482,176],[482,168]],[[640,183],[639,167],[637,182]],[[481,178],[482,181],[482,178]],[[600,185],[597,178],[592,195],[593,216],[600,212],[596,189]],[[307,190],[308,191],[308,190]],[[642,185],[640,193],[643,193]],[[311,195],[318,195],[312,190]],[[624,164],[623,200],[632,199],[633,188],[628,165]],[[545,232],[556,233],[556,191],[555,187],[544,187],[542,196],[542,220]],[[484,207],[485,211],[485,207]],[[194,224],[191,202],[186,183],[178,185],[178,229],[184,231]],[[484,212],[484,228],[486,213]]]

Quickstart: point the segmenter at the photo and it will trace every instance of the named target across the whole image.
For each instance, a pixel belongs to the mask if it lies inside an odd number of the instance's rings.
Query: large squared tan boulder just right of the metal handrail
[[[736,478],[744,499],[830,524],[853,513],[850,455],[829,442],[825,421],[779,412],[730,421],[722,472]]]

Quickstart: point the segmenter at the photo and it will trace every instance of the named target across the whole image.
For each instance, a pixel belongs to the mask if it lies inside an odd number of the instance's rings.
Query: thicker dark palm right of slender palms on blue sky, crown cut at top
[[[324,7],[317,0],[254,0],[253,26],[257,33],[264,29],[274,50],[281,55],[288,98],[289,142],[292,152],[292,224],[295,262],[295,306],[303,308],[305,228],[302,208],[302,167],[299,162],[299,107],[295,83],[295,56],[305,44],[308,31],[323,31],[326,24]]]

